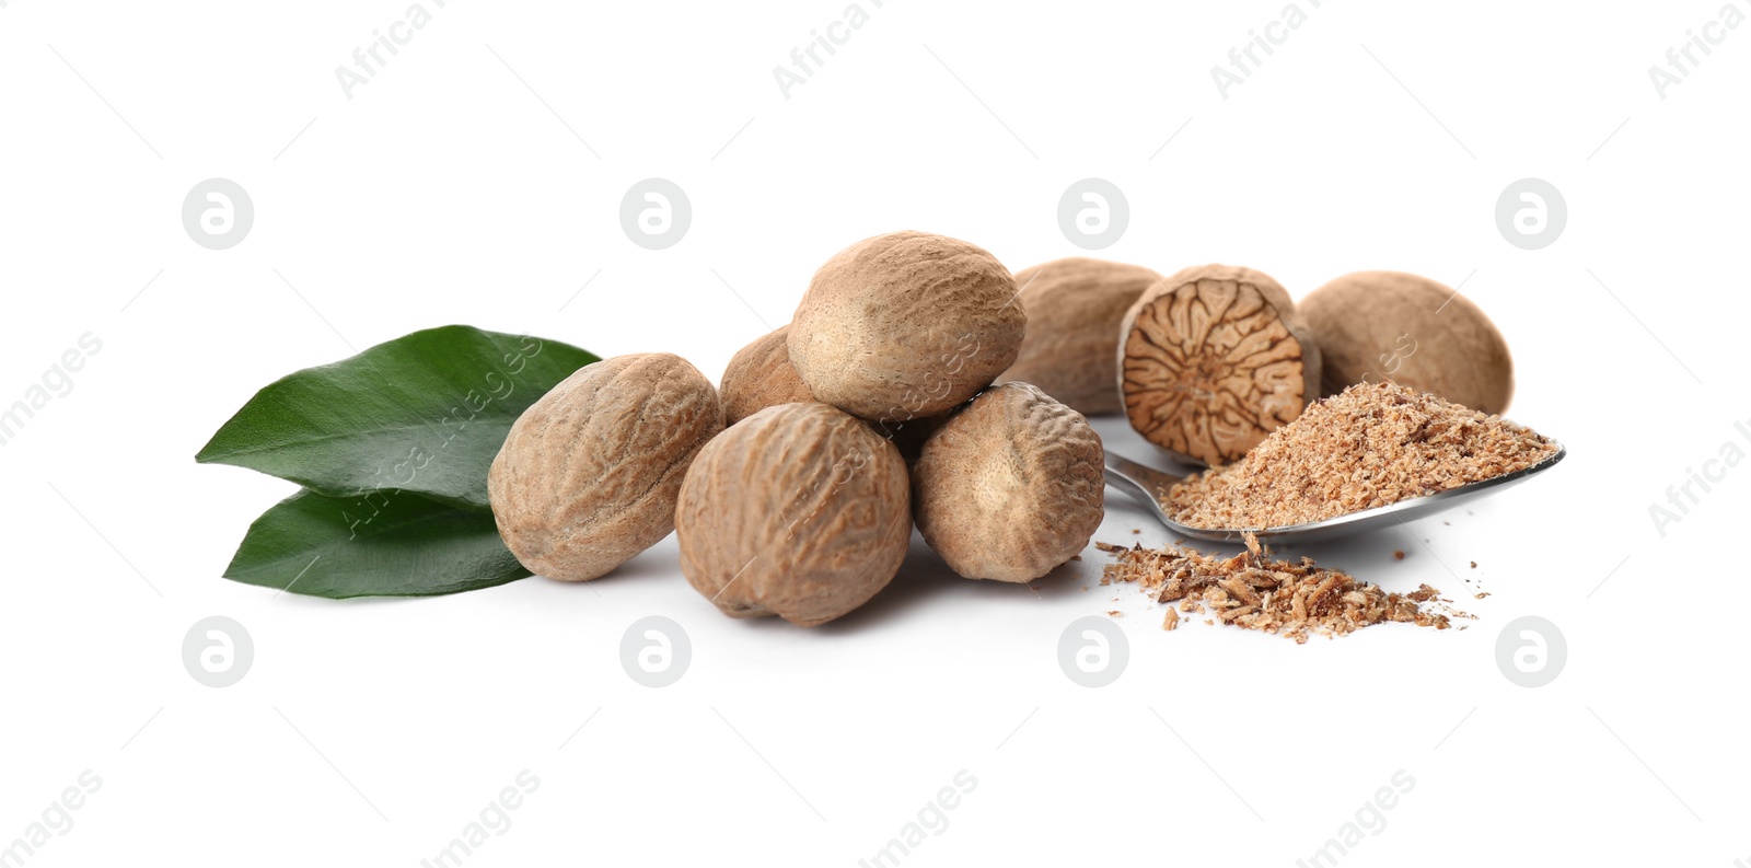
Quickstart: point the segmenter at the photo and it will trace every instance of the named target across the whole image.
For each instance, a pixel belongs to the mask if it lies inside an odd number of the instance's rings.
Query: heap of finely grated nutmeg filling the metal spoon
[[[1166,492],[1191,527],[1324,522],[1523,471],[1551,439],[1397,383],[1359,383],[1308,406],[1227,467]]]

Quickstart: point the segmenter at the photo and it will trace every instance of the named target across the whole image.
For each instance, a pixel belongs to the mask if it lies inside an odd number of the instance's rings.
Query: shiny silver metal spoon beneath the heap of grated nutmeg
[[[1336,539],[1350,534],[1361,534],[1366,530],[1378,530],[1382,527],[1392,527],[1401,522],[1415,522],[1418,518],[1427,518],[1436,513],[1453,509],[1455,506],[1520,485],[1530,480],[1532,476],[1551,469],[1567,453],[1569,450],[1558,444],[1557,452],[1551,457],[1523,471],[1515,471],[1478,483],[1460,485],[1459,488],[1448,488],[1445,492],[1436,492],[1424,497],[1410,497],[1396,504],[1376,506],[1373,509],[1362,509],[1361,513],[1348,513],[1336,518],[1327,518],[1324,522],[1254,528],[1252,532],[1257,534],[1261,542],[1262,541],[1317,542],[1322,539]],[[1138,500],[1147,504],[1150,511],[1156,514],[1156,518],[1159,518],[1163,525],[1168,525],[1170,530],[1191,539],[1208,539],[1213,542],[1240,542],[1247,528],[1189,527],[1171,518],[1171,514],[1168,513],[1168,504],[1164,504],[1161,499],[1166,497],[1166,492],[1173,488],[1173,485],[1178,483],[1180,480],[1184,480],[1184,476],[1175,476],[1171,472],[1163,472],[1154,467],[1145,467],[1131,458],[1124,458],[1110,452],[1107,453],[1107,485],[1121,488],[1131,497],[1136,497]]]

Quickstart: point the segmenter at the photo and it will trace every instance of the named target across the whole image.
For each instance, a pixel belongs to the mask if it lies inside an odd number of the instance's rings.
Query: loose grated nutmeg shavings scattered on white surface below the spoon
[[[1257,537],[1247,534],[1247,551],[1215,558],[1191,550],[1145,550],[1098,544],[1114,556],[1101,581],[1136,583],[1156,602],[1170,604],[1163,630],[1178,626],[1184,612],[1210,611],[1213,621],[1262,630],[1304,644],[1311,635],[1348,635],[1383,621],[1446,630],[1448,616],[1424,609],[1439,592],[1424,584],[1411,593],[1387,593],[1338,570],[1271,560]],[[1466,616],[1464,612],[1455,612]],[[1205,621],[1212,623],[1212,621]]]

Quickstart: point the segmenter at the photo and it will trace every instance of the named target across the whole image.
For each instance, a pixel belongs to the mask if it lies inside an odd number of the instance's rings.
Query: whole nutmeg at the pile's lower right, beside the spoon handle
[[[1033,581],[1100,527],[1100,434],[1028,383],[984,390],[925,441],[912,514],[925,542],[968,579]]]

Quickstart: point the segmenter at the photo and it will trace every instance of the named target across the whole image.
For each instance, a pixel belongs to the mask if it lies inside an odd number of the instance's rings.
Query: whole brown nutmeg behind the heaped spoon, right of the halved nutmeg
[[[1343,275],[1301,299],[1327,396],[1392,380],[1483,413],[1515,397],[1515,360],[1490,317],[1445,284],[1401,271]]]

